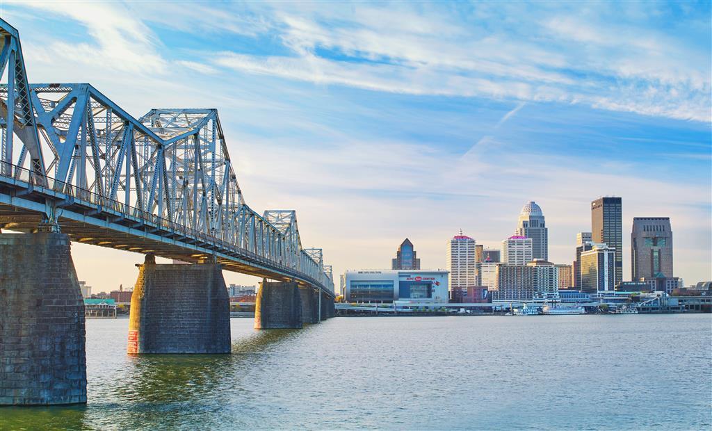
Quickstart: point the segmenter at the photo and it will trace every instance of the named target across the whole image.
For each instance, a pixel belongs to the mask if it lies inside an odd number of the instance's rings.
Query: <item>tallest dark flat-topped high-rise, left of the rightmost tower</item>
[[[600,197],[591,202],[591,239],[615,252],[614,285],[623,281],[622,206],[619,197]]]

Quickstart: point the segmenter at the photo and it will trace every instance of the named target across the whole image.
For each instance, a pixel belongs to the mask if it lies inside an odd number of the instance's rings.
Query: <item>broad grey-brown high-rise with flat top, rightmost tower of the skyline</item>
[[[630,241],[633,281],[673,276],[670,217],[634,217]]]

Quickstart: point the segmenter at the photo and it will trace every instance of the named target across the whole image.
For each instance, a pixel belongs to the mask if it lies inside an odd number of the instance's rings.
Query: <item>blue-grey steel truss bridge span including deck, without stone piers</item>
[[[0,228],[155,254],[333,296],[322,249],[296,213],[245,203],[215,109],[133,118],[88,83],[28,83],[18,31],[0,19]]]

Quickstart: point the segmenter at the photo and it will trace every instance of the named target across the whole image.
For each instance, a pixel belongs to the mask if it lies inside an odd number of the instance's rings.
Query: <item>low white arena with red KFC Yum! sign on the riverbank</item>
[[[373,269],[346,271],[347,302],[446,303],[448,271]]]

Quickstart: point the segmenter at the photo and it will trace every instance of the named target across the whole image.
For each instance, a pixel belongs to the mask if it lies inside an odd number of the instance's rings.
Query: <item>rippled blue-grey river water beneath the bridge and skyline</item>
[[[709,430],[712,315],[231,320],[231,355],[125,353],[87,321],[88,404],[0,429]]]

